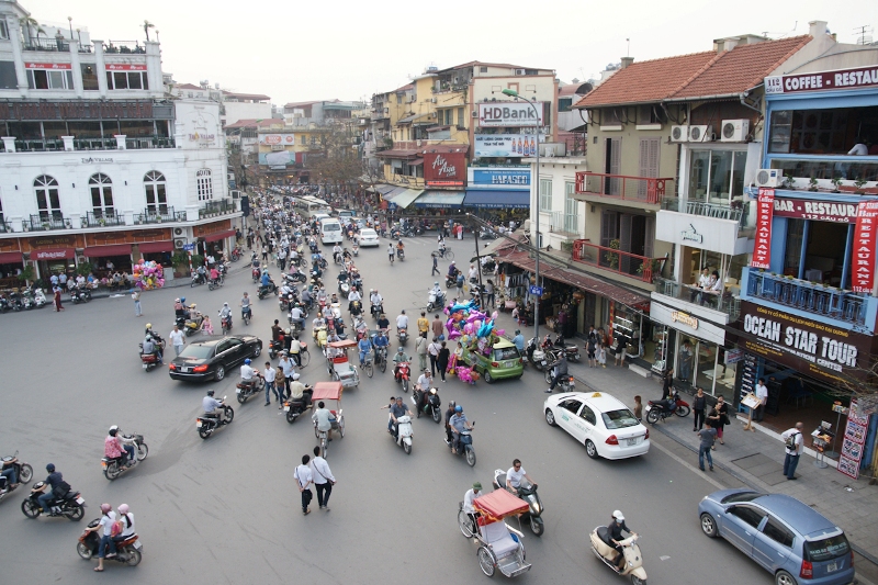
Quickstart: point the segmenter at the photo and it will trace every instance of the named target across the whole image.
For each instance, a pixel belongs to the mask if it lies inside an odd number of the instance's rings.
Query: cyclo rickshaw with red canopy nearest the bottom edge
[[[530,564],[525,562],[525,538],[520,531],[506,525],[504,518],[528,511],[527,502],[518,498],[506,490],[495,490],[489,494],[473,499],[476,518],[473,526],[472,517],[463,511],[460,503],[458,525],[466,538],[479,540],[479,566],[482,572],[494,576],[499,569],[507,577],[517,577],[530,571]]]

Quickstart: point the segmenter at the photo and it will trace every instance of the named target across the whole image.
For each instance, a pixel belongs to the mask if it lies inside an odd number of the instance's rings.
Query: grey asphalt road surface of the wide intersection
[[[362,250],[358,261],[365,288],[380,288],[391,316],[426,304],[435,280],[428,258],[434,240],[407,244],[403,263],[389,266],[383,246]],[[471,247],[472,240],[451,243],[464,261]],[[185,293],[215,314],[224,301],[237,304],[243,291],[255,292],[247,271],[228,282],[215,292],[201,286],[145,294],[146,316],[139,319],[128,296],[68,305],[63,314],[43,310],[0,317],[0,451],[21,449],[37,479],[46,462],[56,463],[82,492],[86,521],[99,515],[101,502],[131,505],[144,561],[136,570],[109,564],[113,574],[150,584],[481,582],[486,577],[475,547],[457,528],[457,505],[473,481],[487,487],[493,470],[518,457],[539,482],[547,509],[545,535],[526,538],[533,569],[521,583],[622,583],[587,547],[588,531],[605,524],[614,508],[624,510],[643,536],[650,583],[701,584],[708,574],[772,583],[730,544],[701,536],[696,506],[716,486],[694,471],[691,453],[653,435],[646,457],[589,460],[581,445],[542,419],[544,384],[532,372],[495,385],[440,384],[443,402],[457,400],[476,420],[479,461],[472,469],[448,453],[431,420],[415,421],[410,457],[391,442],[386,410],[379,407],[397,387],[390,372],[376,372],[345,395],[348,432],[329,453],[338,479],[331,511],[303,517],[292,470],[315,445],[306,419],[288,425],[273,404],[251,398],[234,404],[232,426],[202,441],[194,423],[205,390],[233,396],[235,381],[182,384],[161,370],[145,373],[137,360],[147,320],[162,335],[170,330],[176,295]],[[257,301],[255,315],[248,327],[236,319],[234,331],[267,340],[281,315],[277,302]],[[408,349],[414,352],[414,344]],[[304,374],[308,382],[327,379],[317,360]],[[143,434],[150,451],[143,466],[110,483],[100,458],[112,424]],[[734,482],[722,475],[709,480]],[[79,560],[75,550],[86,521],[27,520],[19,509],[23,494],[0,503],[4,581],[93,583],[93,563]]]

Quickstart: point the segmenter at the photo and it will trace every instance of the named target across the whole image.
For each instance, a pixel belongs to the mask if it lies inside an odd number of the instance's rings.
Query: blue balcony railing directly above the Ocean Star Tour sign
[[[747,271],[747,296],[764,299],[773,303],[790,306],[856,325],[866,324],[866,297],[851,291],[832,286],[812,284],[806,280],[761,272],[751,268]]]

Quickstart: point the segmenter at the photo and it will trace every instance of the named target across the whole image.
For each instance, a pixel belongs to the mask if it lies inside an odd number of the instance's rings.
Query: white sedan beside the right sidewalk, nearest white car
[[[545,398],[545,421],[585,445],[592,459],[626,459],[646,454],[650,429],[624,404],[600,392],[565,392]]]

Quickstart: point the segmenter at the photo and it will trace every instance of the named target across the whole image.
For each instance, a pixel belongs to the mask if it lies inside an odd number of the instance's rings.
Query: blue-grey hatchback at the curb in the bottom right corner
[[[698,504],[705,535],[722,537],[775,576],[776,585],[847,585],[854,553],[841,528],[795,497],[720,490]]]

